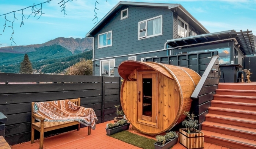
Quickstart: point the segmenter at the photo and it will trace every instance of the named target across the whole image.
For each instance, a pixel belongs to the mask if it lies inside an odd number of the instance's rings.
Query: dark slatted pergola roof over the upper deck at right
[[[244,55],[256,54],[254,39],[252,31],[242,31],[236,32],[235,30],[214,32],[209,34],[202,34],[178,39],[167,40],[168,45],[172,47],[183,46],[183,45],[192,45],[197,43],[206,43],[207,42],[221,42],[225,39],[235,38],[239,48]]]

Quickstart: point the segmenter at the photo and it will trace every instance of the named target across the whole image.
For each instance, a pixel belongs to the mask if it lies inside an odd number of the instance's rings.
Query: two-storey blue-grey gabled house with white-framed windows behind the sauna
[[[86,37],[94,38],[94,75],[119,76],[124,60],[165,56],[167,40],[207,33],[180,4],[119,2]]]

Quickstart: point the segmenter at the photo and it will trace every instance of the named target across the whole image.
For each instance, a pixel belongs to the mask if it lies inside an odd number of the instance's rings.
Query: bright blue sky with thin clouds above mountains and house
[[[0,15],[16,11],[27,6],[46,2],[47,0],[0,0]],[[67,0],[66,0],[67,1]],[[210,32],[252,30],[256,35],[256,0],[128,0],[130,2],[179,3],[192,14]],[[57,37],[83,38],[94,24],[95,0],[73,0],[66,3],[66,14],[63,17],[60,0],[52,0],[42,5],[43,15],[24,18],[20,27],[21,12],[16,12],[18,20],[13,23],[13,38],[17,45],[41,44]],[[119,0],[97,0],[97,17],[101,20]],[[38,6],[37,8],[41,8]],[[27,18],[31,8],[24,10]],[[13,21],[13,13],[6,15]],[[3,31],[5,17],[0,16],[0,47],[11,45],[12,23],[7,22]],[[1,45],[2,44],[2,45]],[[15,45],[15,44],[13,44]]]

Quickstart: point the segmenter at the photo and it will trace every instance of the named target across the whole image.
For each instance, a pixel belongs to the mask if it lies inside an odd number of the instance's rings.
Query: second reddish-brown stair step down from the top
[[[256,90],[216,89],[218,95],[256,96]]]

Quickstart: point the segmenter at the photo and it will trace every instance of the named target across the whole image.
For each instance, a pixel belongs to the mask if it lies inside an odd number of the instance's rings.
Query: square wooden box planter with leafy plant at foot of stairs
[[[182,121],[182,125],[186,128],[179,129],[179,143],[187,147],[187,149],[202,149],[204,148],[204,133],[196,130],[198,120],[194,120],[195,114],[184,111],[187,120]]]

